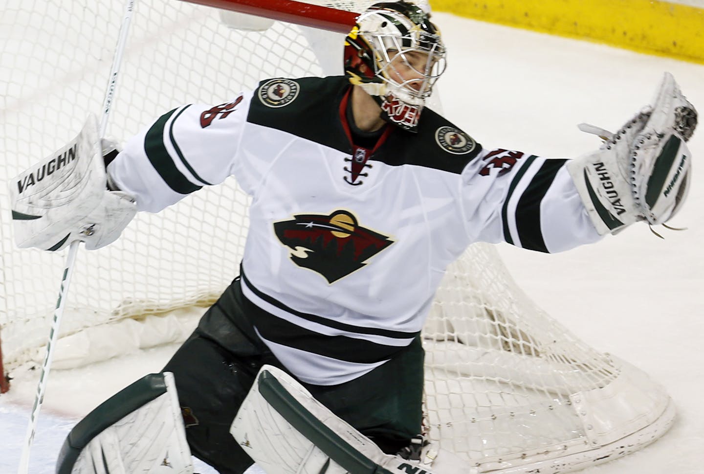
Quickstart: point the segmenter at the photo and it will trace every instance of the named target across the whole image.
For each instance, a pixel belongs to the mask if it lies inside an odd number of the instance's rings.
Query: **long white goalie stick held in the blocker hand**
[[[125,44],[127,44],[127,33],[130,30],[132,11],[134,11],[134,0],[127,0],[125,2],[125,11],[122,15],[122,23],[120,25],[120,33],[118,35],[118,44],[115,46],[115,56],[113,57],[108,87],[106,90],[105,99],[103,100],[103,114],[100,122],[99,137],[103,137],[105,135],[108,127],[108,118],[110,116],[111,106],[113,104],[113,95],[115,93],[115,86],[117,85],[120,63],[122,62],[122,52],[125,50]],[[32,449],[32,442],[34,441],[34,434],[37,432],[39,410],[42,408],[42,403],[44,402],[46,382],[49,379],[51,360],[54,357],[54,347],[56,347],[56,341],[58,339],[58,328],[61,325],[61,318],[63,317],[63,310],[66,304],[71,275],[73,275],[73,269],[75,268],[79,244],[80,242],[77,240],[71,242],[68,249],[68,256],[66,257],[66,264],[63,270],[63,276],[61,278],[61,287],[58,292],[58,301],[56,302],[56,309],[54,310],[54,319],[51,322],[51,330],[49,331],[49,341],[46,343],[46,355],[44,356],[44,362],[42,363],[42,373],[39,375],[37,394],[34,397],[34,405],[32,406],[32,413],[30,414],[30,420],[27,425],[27,432],[25,433],[22,456],[20,458],[20,465],[17,471],[18,474],[27,474],[29,472],[30,451]]]

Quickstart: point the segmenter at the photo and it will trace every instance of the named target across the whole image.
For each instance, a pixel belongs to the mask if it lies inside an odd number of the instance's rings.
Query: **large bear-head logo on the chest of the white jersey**
[[[366,261],[394,241],[358,225],[348,211],[297,214],[274,223],[274,232],[291,249],[291,261],[320,273],[333,283],[366,265]]]

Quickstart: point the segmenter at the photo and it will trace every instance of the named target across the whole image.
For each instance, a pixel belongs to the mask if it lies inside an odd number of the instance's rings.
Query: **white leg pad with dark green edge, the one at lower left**
[[[56,474],[134,473],[193,473],[171,373],[147,375],[95,408],[56,462]]]

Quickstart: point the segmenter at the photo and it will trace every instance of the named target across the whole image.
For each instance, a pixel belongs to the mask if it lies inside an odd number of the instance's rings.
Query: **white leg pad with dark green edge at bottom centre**
[[[430,449],[418,461],[384,454],[272,366],[260,370],[230,432],[267,474],[407,474],[420,469],[433,474],[469,468],[449,453]]]

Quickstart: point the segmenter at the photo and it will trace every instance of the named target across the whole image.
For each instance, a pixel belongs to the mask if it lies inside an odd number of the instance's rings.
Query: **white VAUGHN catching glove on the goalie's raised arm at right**
[[[694,107],[665,73],[652,106],[616,134],[580,125],[605,140],[597,151],[567,165],[599,234],[638,220],[658,225],[674,217],[689,187],[691,154],[685,142],[696,124]]]

